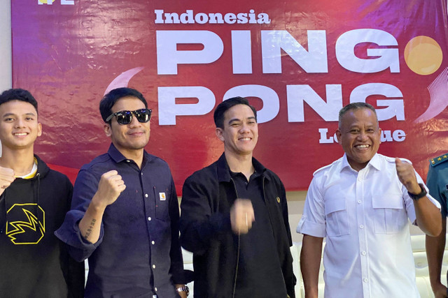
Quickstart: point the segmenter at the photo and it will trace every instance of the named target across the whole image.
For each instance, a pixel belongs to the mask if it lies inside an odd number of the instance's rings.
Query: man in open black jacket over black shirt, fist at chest
[[[295,297],[285,188],[252,156],[256,110],[230,98],[214,120],[224,154],[186,179],[181,201],[195,297]]]

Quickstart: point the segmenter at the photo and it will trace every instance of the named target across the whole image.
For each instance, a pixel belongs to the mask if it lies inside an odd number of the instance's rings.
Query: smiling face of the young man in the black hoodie
[[[3,151],[33,149],[34,141],[42,135],[37,111],[22,100],[10,100],[0,105],[0,140]]]

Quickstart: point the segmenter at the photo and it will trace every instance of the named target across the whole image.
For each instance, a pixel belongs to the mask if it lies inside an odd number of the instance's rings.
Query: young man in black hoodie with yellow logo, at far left
[[[0,95],[0,296],[83,297],[84,263],[53,234],[73,186],[34,154],[37,102],[23,89]]]

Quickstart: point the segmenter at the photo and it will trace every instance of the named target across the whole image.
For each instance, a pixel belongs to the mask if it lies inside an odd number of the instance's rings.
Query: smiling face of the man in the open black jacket
[[[258,124],[247,105],[234,105],[224,113],[224,128],[216,128],[216,135],[224,142],[225,154],[252,154],[258,141]]]

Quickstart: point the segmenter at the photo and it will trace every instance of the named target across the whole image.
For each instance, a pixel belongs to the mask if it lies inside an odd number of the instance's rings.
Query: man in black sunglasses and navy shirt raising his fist
[[[57,236],[88,258],[85,297],[187,297],[179,244],[179,204],[169,167],[148,154],[151,110],[130,88],[99,104],[106,154],[84,165],[72,209]]]

